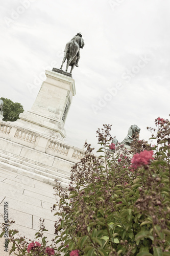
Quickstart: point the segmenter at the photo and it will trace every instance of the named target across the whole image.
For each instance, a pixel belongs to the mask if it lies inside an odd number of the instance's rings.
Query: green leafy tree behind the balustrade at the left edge
[[[24,111],[23,106],[20,103],[13,102],[8,98],[1,97],[1,99],[4,101],[3,121],[16,121],[17,119],[19,119],[19,114]]]

